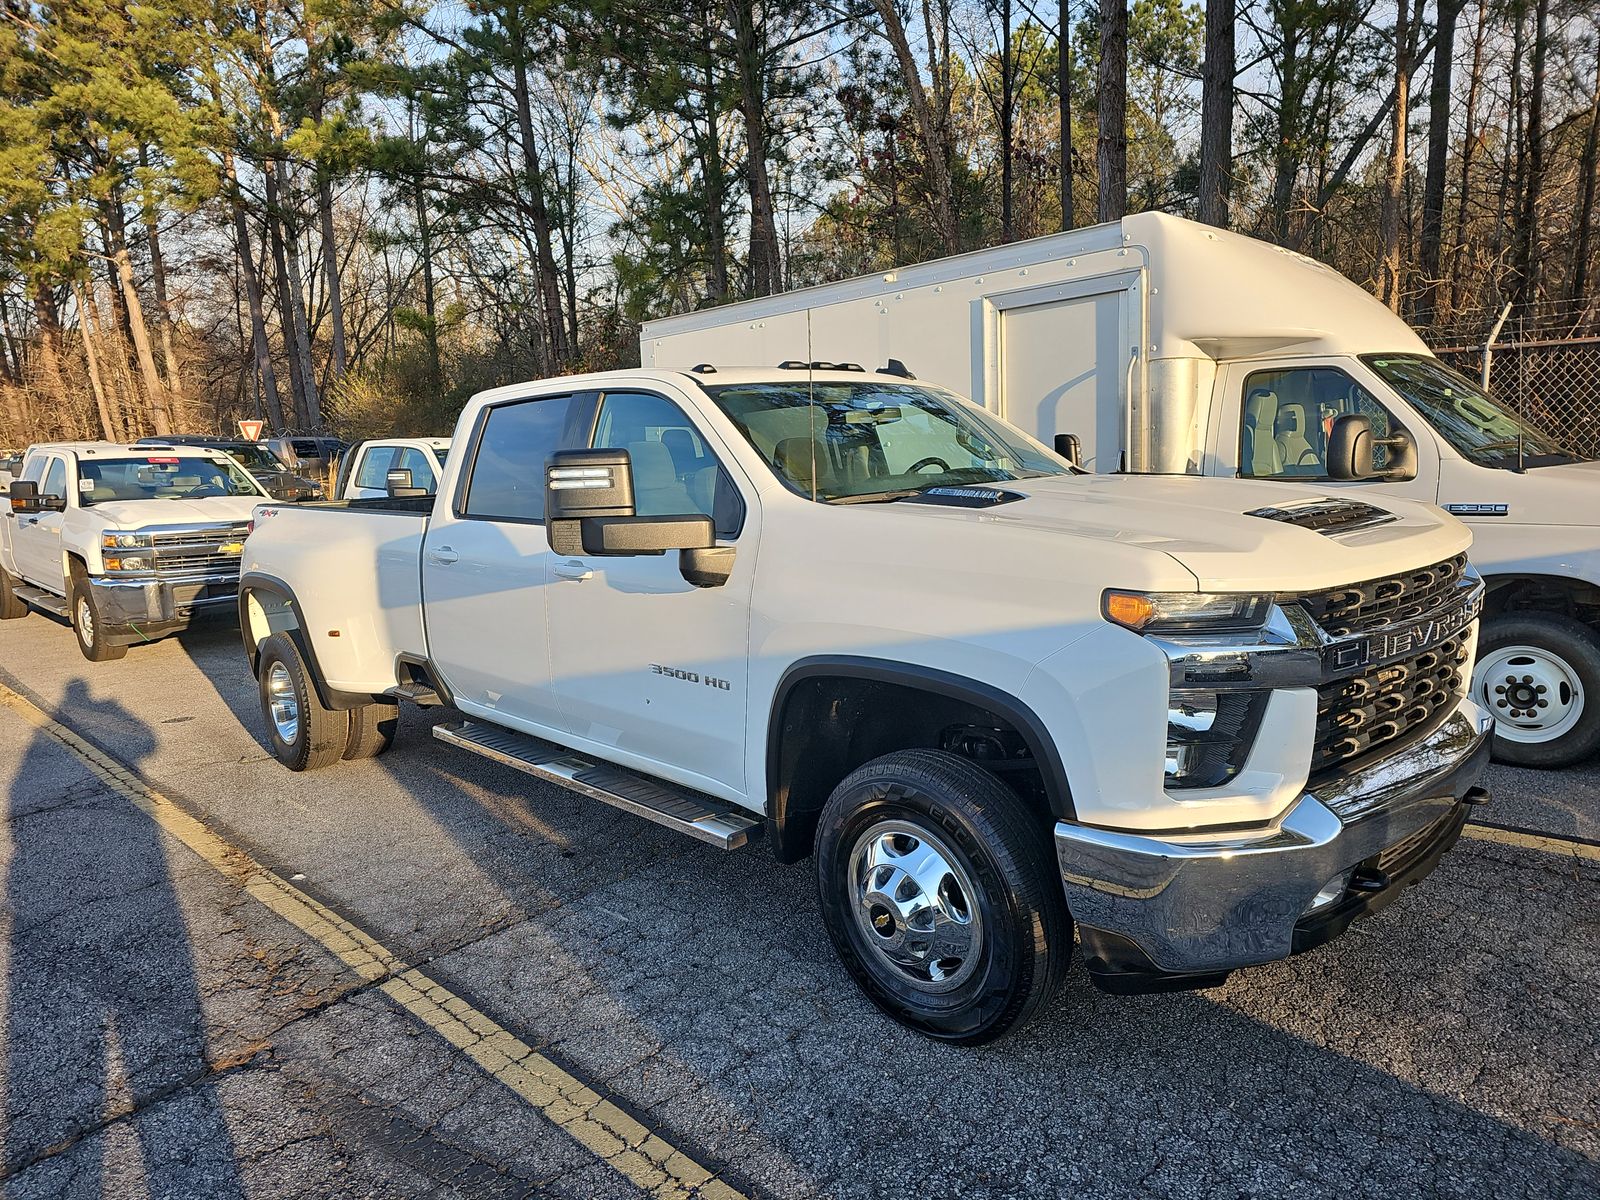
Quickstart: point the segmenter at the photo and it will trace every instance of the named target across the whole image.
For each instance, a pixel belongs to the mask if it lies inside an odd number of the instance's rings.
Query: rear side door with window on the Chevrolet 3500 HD
[[[470,715],[549,733],[562,726],[546,632],[550,542],[544,464],[582,445],[582,394],[488,405],[453,494],[422,542],[429,658]]]

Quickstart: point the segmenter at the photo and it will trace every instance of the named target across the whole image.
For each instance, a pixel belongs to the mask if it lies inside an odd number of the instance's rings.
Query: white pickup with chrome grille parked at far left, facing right
[[[67,618],[91,662],[234,614],[251,509],[267,493],[206,446],[30,446],[0,520],[0,621]]]

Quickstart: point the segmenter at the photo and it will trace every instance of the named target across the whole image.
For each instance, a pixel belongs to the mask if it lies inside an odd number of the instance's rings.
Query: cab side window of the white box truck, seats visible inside
[[[1378,400],[1333,366],[1256,371],[1240,405],[1238,474],[1254,478],[1328,478],[1328,434],[1341,416],[1365,416],[1374,437],[1389,437],[1390,419]],[[1387,466],[1378,446],[1373,464]]]

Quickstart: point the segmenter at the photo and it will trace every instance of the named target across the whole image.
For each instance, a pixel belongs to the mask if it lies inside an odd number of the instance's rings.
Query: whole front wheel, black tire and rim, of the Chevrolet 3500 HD
[[[904,874],[896,877],[899,867],[883,856],[915,856],[922,848],[939,856],[934,893],[947,906],[941,910],[966,914],[965,931],[952,923],[957,939],[976,939],[970,957],[938,960],[944,979],[923,978],[933,976],[931,949],[918,966],[891,958],[915,955],[915,934],[926,926],[917,912],[906,920],[907,891],[893,883]],[[877,867],[875,850],[882,850]],[[946,854],[954,856],[954,872],[942,872]],[[898,750],[848,774],[822,810],[816,864],[822,920],[845,968],[878,1008],[928,1037],[997,1038],[1038,1011],[1067,970],[1072,917],[1048,822],[965,758]],[[890,888],[894,899],[886,906],[874,886]],[[912,896],[926,894],[910,886]]]

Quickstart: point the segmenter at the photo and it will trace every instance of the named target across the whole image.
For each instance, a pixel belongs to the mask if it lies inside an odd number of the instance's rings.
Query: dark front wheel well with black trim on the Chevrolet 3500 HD
[[[768,733],[768,816],[782,862],[811,853],[827,797],[893,750],[950,750],[992,771],[1042,822],[1070,814],[1054,747],[1030,712],[981,685],[882,672],[786,677]]]

